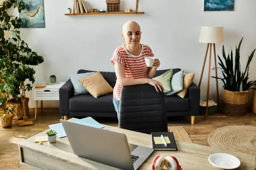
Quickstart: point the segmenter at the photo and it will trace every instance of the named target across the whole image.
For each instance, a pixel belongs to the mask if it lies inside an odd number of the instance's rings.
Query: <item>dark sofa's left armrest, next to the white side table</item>
[[[69,116],[69,99],[74,95],[73,84],[70,79],[59,89],[59,108],[61,116]]]

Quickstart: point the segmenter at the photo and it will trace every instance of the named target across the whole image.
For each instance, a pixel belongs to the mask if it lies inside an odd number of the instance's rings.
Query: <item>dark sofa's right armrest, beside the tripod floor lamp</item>
[[[200,111],[200,88],[192,82],[188,88],[189,95],[189,116],[197,116]]]

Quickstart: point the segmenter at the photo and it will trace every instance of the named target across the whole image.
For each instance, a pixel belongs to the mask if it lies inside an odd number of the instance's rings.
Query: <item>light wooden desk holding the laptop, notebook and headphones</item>
[[[70,119],[70,121],[72,120],[75,119]],[[131,144],[152,147],[151,135],[108,125],[104,126],[102,130],[124,133],[127,136],[128,142]],[[43,136],[45,133],[46,131],[35,136]],[[83,135],[82,132],[80,133]],[[117,168],[76,156],[73,154],[67,137],[57,137],[56,143],[48,144],[48,142],[44,142],[43,144],[39,144],[34,142],[35,136],[25,139],[18,144],[20,164],[38,170],[117,170]],[[151,162],[156,155],[164,157],[168,155],[175,156],[183,170],[220,170],[220,168],[212,166],[208,161],[208,157],[212,153],[232,154],[241,161],[241,166],[237,170],[254,170],[255,156],[228,150],[219,150],[188,142],[177,141],[177,147],[178,151],[154,151],[144,164],[142,164],[140,170],[150,170]]]

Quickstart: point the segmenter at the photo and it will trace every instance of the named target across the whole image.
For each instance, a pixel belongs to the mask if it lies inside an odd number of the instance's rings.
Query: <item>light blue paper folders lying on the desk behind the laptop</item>
[[[97,127],[97,128],[103,128],[104,127],[99,122],[94,120],[92,117],[86,117],[86,118],[83,118],[83,119],[74,120],[72,122],[76,122],[76,123],[79,123],[81,125]],[[49,127],[52,130],[55,130],[57,132],[56,136],[58,136],[59,138],[63,138],[63,137],[67,136],[66,133],[65,133],[65,130],[64,130],[64,127],[63,127],[62,123],[57,123],[57,124],[49,125]]]

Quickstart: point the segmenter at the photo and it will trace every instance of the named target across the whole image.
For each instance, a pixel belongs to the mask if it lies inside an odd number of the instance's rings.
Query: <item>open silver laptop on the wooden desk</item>
[[[61,119],[73,153],[111,167],[137,170],[154,149],[128,144],[125,134]]]

